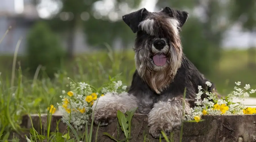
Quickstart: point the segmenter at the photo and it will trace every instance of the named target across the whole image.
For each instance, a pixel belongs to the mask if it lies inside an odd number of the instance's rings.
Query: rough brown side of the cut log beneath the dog
[[[34,128],[40,132],[40,121],[38,115],[32,115]],[[42,115],[42,124],[47,122],[47,116]],[[53,115],[51,119],[51,131],[55,131],[57,121],[61,119],[61,115]],[[132,119],[132,131],[130,142],[143,142],[144,135],[150,142],[159,142],[159,139],[154,139],[148,133],[147,115],[135,114]],[[256,142],[256,115],[218,115],[204,116],[205,121],[184,122],[182,142]],[[24,116],[22,126],[31,128],[29,116]],[[44,127],[44,126],[43,126]],[[113,137],[117,138],[118,131],[117,120],[108,126],[100,127],[98,130],[97,142],[113,142],[104,132],[108,132]],[[90,126],[88,126],[90,129]],[[96,138],[97,126],[93,126],[92,142]],[[64,133],[67,131],[67,125],[62,121],[59,123],[59,131]],[[84,130],[83,130],[84,131]],[[143,134],[144,133],[144,134]],[[179,142],[180,130],[173,132],[174,142]],[[119,128],[119,140],[123,139],[124,135]],[[22,140],[22,139],[21,139]],[[162,141],[165,141],[162,139]]]

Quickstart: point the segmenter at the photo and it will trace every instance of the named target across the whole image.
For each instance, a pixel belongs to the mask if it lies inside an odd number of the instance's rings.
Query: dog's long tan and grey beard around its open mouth
[[[181,66],[182,49],[177,50],[172,44],[166,44],[163,49],[158,50],[148,41],[142,46],[144,47],[135,52],[136,69],[151,89],[160,94],[168,87]],[[154,59],[159,57],[165,59]]]

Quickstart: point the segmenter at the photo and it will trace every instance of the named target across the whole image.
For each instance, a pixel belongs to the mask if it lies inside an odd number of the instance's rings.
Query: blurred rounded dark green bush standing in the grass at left
[[[31,74],[35,74],[39,65],[46,74],[53,77],[64,58],[64,51],[58,37],[44,22],[36,23],[27,38],[27,65]]]

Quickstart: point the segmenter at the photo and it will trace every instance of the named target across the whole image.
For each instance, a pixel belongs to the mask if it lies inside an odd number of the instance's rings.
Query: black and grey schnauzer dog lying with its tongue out
[[[168,134],[179,129],[183,112],[189,113],[195,106],[198,85],[207,91],[214,88],[207,87],[205,82],[209,80],[183,54],[179,32],[187,17],[187,12],[169,7],[158,12],[143,8],[123,16],[123,21],[137,33],[136,70],[128,93],[107,93],[97,105],[94,103],[96,124],[108,125],[116,118],[117,110],[138,108],[136,113],[148,114],[149,133],[159,138],[161,130]],[[205,97],[204,94],[201,99]]]

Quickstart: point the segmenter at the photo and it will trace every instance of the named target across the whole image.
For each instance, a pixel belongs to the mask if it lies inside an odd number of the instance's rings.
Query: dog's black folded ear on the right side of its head
[[[170,7],[165,7],[162,11],[165,12],[166,14],[168,14],[170,17],[174,17],[177,20],[179,20],[180,28],[187,21],[188,12],[186,12],[186,11],[179,11],[179,10],[171,9]]]

